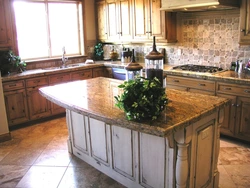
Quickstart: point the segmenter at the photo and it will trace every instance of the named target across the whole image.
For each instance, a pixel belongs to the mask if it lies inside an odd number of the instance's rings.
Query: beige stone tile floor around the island
[[[0,143],[0,188],[123,188],[70,155],[65,118],[11,131]],[[250,187],[250,145],[221,138],[220,187]]]

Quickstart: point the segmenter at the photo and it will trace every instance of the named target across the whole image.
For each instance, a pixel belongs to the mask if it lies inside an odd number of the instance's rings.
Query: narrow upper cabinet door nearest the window
[[[97,12],[97,37],[99,40],[107,39],[107,15],[106,15],[106,2],[96,2]]]

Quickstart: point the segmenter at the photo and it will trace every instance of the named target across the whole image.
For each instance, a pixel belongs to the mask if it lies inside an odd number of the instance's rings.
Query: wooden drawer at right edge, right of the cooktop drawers
[[[250,97],[249,86],[238,86],[234,84],[217,83],[217,92],[226,94],[235,94],[237,96],[248,96]]]

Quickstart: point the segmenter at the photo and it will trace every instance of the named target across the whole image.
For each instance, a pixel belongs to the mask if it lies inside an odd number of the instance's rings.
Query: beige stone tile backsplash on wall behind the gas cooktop
[[[239,10],[179,13],[178,42],[157,44],[166,49],[170,65],[199,64],[229,68],[231,62],[250,58],[250,45],[239,46]],[[144,61],[150,46],[133,46],[137,60]]]

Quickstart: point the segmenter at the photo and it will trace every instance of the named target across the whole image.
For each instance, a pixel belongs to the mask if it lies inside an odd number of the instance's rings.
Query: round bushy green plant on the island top
[[[155,120],[168,103],[165,89],[156,77],[137,77],[118,87],[123,93],[115,96],[115,106],[125,112],[128,120]]]

